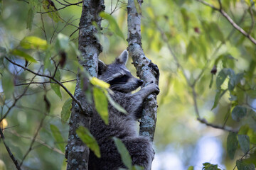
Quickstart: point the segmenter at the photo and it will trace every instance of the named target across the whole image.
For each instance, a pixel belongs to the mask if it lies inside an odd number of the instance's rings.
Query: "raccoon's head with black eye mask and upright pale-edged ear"
[[[128,60],[128,52],[124,50],[122,54],[116,58],[115,62],[106,65],[99,61],[98,78],[110,84],[110,89],[129,93],[139,86],[143,81],[132,76],[131,72],[125,67]]]

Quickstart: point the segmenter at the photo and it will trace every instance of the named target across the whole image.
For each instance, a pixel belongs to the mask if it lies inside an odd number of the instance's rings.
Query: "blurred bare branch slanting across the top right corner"
[[[210,6],[210,8],[213,8],[215,11],[219,11],[227,20],[228,22],[231,23],[231,25],[238,30],[240,33],[242,33],[242,35],[244,35],[245,37],[247,37],[252,43],[254,43],[256,45],[256,40],[254,38],[252,38],[252,36],[250,35],[250,33],[247,33],[245,30],[243,30],[242,28],[240,28],[240,26],[238,26],[238,24],[235,23],[235,21],[233,21],[232,18],[230,18],[230,16],[228,16],[228,13],[226,13],[223,8],[222,8],[222,4],[221,1],[219,1],[220,4],[220,8],[216,8],[215,6],[208,4],[206,1],[203,0],[196,0],[201,2],[202,4],[206,5],[206,6]]]

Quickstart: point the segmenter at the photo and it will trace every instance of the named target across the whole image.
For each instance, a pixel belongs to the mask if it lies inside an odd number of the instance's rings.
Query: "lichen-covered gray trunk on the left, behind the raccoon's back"
[[[105,10],[104,0],[85,0],[82,4],[82,16],[79,23],[79,40],[78,48],[82,54],[82,59],[79,61],[82,67],[92,77],[97,77],[98,56],[102,52],[100,42],[94,36],[97,32],[95,26],[92,26],[92,21],[101,26],[101,18],[98,15]],[[80,89],[80,79],[75,87],[75,98],[77,98],[84,111],[81,111],[78,104],[73,102],[73,107],[70,116],[70,130],[68,136],[68,145],[66,147],[65,157],[68,159],[68,170],[88,169],[89,149],[80,140],[75,130],[79,126],[86,128],[90,127],[90,115],[92,115],[92,106],[85,100],[85,93]]]

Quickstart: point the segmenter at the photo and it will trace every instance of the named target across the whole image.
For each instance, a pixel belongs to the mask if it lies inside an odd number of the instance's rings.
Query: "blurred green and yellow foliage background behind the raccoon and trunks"
[[[256,38],[255,1],[221,2],[230,18]],[[0,0],[0,118],[8,113],[1,126],[8,125],[4,129],[6,143],[24,169],[65,169],[68,123],[67,118],[61,120],[60,113],[63,108],[63,114],[68,114],[70,107],[63,104],[70,96],[48,77],[34,77],[5,57],[38,74],[54,76],[73,94],[82,4],[65,7],[60,3]],[[95,36],[103,46],[100,59],[106,63],[127,47],[122,38],[127,35],[126,3],[105,2],[103,29]],[[220,8],[218,1],[206,3]],[[254,169],[256,45],[219,11],[200,1],[149,0],[137,11],[142,11],[144,52],[161,72],[156,154],[171,147],[186,169]],[[55,69],[57,64],[60,67]],[[210,160],[201,165],[193,162],[198,157],[194,147],[206,135],[223,143],[221,166]],[[1,166],[15,169],[3,142],[0,150],[5,164]]]

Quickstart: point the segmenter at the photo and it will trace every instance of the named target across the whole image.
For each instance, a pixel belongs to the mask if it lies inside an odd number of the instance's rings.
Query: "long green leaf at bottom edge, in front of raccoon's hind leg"
[[[129,152],[123,142],[119,140],[117,137],[113,137],[114,144],[117,146],[117,150],[121,155],[122,162],[128,169],[132,169],[132,158],[129,155]]]

